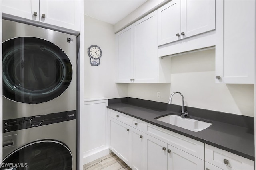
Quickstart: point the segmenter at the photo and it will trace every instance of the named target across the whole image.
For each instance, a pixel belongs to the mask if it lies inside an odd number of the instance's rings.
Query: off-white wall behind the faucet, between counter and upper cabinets
[[[254,84],[216,84],[214,49],[171,60],[171,84],[129,84],[128,96],[167,103],[170,94],[179,91],[185,106],[254,117]],[[172,104],[181,105],[178,94]]]

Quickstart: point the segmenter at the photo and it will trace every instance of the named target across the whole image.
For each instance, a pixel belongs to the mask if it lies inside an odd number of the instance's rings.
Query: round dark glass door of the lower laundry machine
[[[71,170],[70,150],[57,141],[28,144],[4,158],[1,170]]]

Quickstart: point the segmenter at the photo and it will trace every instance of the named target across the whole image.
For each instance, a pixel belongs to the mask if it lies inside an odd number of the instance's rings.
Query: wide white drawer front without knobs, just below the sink
[[[149,123],[144,123],[144,133],[204,160],[204,143],[200,141]]]

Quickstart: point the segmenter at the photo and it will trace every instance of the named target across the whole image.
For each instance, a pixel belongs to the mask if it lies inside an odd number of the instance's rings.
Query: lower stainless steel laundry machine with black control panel
[[[0,170],[76,170],[76,111],[3,122]]]

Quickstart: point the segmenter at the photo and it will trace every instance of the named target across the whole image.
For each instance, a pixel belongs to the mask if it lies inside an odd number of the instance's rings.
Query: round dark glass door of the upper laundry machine
[[[72,79],[68,56],[53,43],[19,37],[3,43],[3,95],[37,104],[62,94]]]

